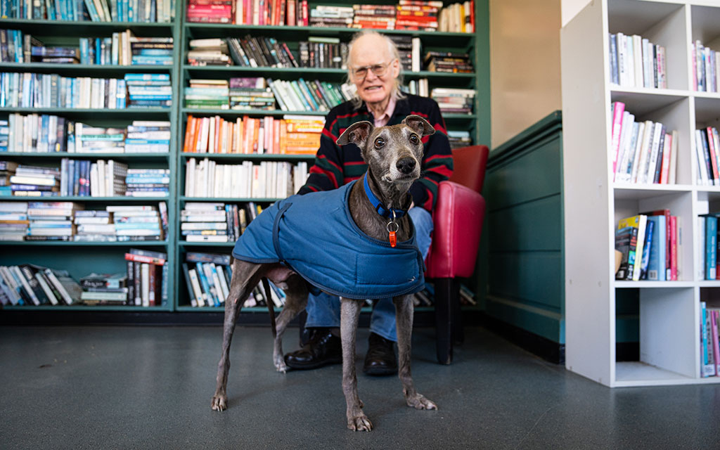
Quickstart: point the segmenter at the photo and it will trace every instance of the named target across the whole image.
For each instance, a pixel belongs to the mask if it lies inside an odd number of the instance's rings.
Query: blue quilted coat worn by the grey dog
[[[423,256],[414,225],[410,239],[395,248],[363,233],[348,207],[354,183],[276,202],[250,222],[233,256],[252,263],[281,262],[312,286],[349,299],[422,290]]]

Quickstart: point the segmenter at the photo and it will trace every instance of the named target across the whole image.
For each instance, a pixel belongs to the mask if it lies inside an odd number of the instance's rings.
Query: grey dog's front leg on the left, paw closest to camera
[[[340,299],[340,336],[343,342],[343,394],[347,404],[348,428],[354,431],[370,431],[372,423],[362,412],[358,397],[358,379],[355,374],[355,337],[360,317],[359,300]]]

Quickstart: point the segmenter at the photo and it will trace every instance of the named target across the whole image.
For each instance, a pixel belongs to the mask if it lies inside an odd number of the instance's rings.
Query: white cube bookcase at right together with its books
[[[593,2],[561,48],[566,366],[610,387],[719,382],[720,7]],[[616,353],[626,297],[638,361]]]

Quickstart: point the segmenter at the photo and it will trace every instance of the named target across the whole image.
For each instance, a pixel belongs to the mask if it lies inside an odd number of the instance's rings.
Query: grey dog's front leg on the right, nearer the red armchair
[[[413,339],[413,297],[403,295],[395,297],[395,324],[397,327],[397,354],[400,359],[397,371],[402,383],[402,393],[408,406],[418,410],[436,410],[438,406],[415,390],[413,376],[410,374],[410,349]]]

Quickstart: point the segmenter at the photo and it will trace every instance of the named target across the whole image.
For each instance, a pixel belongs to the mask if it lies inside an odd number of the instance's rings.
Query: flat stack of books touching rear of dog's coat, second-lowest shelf
[[[180,212],[181,235],[187,242],[233,242],[239,235],[240,217],[237,207],[228,210],[226,206],[230,205],[186,202]]]

